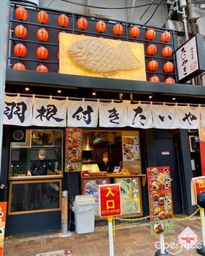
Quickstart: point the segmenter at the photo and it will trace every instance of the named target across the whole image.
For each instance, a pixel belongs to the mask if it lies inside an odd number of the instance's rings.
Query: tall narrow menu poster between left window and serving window
[[[65,172],[81,172],[82,129],[65,129]]]

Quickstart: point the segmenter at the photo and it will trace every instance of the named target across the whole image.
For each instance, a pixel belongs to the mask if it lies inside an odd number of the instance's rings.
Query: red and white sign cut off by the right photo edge
[[[195,177],[191,179],[191,204],[196,206],[197,195],[205,191],[205,176]]]

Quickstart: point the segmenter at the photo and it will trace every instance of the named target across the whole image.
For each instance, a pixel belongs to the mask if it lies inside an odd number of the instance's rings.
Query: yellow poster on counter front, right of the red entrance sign
[[[138,177],[115,178],[121,190],[122,215],[137,215],[141,212],[140,180]]]

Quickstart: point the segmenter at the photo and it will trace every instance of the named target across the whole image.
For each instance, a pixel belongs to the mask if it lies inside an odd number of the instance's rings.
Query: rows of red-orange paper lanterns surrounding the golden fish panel
[[[15,15],[16,15],[17,19],[22,20],[22,21],[26,20],[28,17],[27,10],[22,6],[20,6],[16,9]],[[46,25],[47,22],[49,21],[49,15],[47,14],[47,12],[45,12],[45,11],[38,12],[37,13],[37,21],[40,24]],[[69,25],[68,16],[65,14],[60,14],[58,16],[58,25],[60,27],[68,27],[68,25]],[[86,30],[88,28],[87,19],[85,17],[80,17],[77,20],[77,27],[78,27],[78,30]],[[105,31],[106,31],[106,23],[103,20],[99,20],[98,22],[96,22],[96,32],[103,33]],[[62,31],[62,32],[65,32],[65,31]],[[114,33],[114,35],[117,35],[117,36],[122,35],[123,26],[119,23],[114,25],[113,33]],[[27,28],[24,27],[24,25],[17,25],[17,27],[15,28],[15,35],[20,39],[25,39],[27,37]],[[135,25],[130,27],[130,29],[129,29],[130,37],[136,38],[139,35],[140,35],[139,27],[137,27]],[[153,30],[151,28],[149,30],[147,30],[147,32],[145,33],[146,39],[150,40],[150,41],[155,39],[155,35],[156,35],[155,30]],[[49,34],[48,34],[47,30],[45,30],[44,27],[37,30],[37,39],[38,40],[40,40],[41,42],[46,42],[48,40],[48,38],[49,38]],[[160,40],[163,43],[168,43],[170,41],[170,38],[171,38],[171,34],[168,31],[165,31],[160,35]],[[59,38],[58,38],[58,40],[59,40]],[[150,44],[147,46],[147,54],[149,56],[154,56],[157,53],[157,50],[158,50],[158,48],[154,44]],[[170,46],[165,46],[165,48],[163,48],[163,50],[162,50],[162,55],[164,58],[170,57],[172,55],[172,53],[173,53],[173,50]],[[26,56],[26,54],[27,54],[27,48],[22,43],[19,43],[14,46],[14,54],[19,58],[24,58],[24,56]],[[37,48],[36,54],[37,54],[37,58],[40,58],[42,60],[46,60],[49,55],[47,48],[45,48],[43,45],[40,46],[39,48]],[[58,56],[59,56],[59,53],[58,53]],[[18,62],[18,63],[14,64],[13,69],[25,70],[25,66],[21,62]],[[156,71],[158,69],[158,61],[155,61],[155,60],[150,61],[148,63],[148,69],[150,71]],[[163,70],[165,71],[165,73],[171,73],[173,71],[173,69],[174,69],[174,64],[170,61],[167,61],[163,65]],[[37,71],[45,71],[45,72],[48,71],[47,67],[42,64],[40,66],[38,66],[36,70]],[[158,76],[153,75],[150,77],[150,81],[156,82],[156,81],[160,81],[160,79]],[[167,79],[165,79],[165,82],[173,84],[173,83],[175,83],[175,79],[168,77]]]

